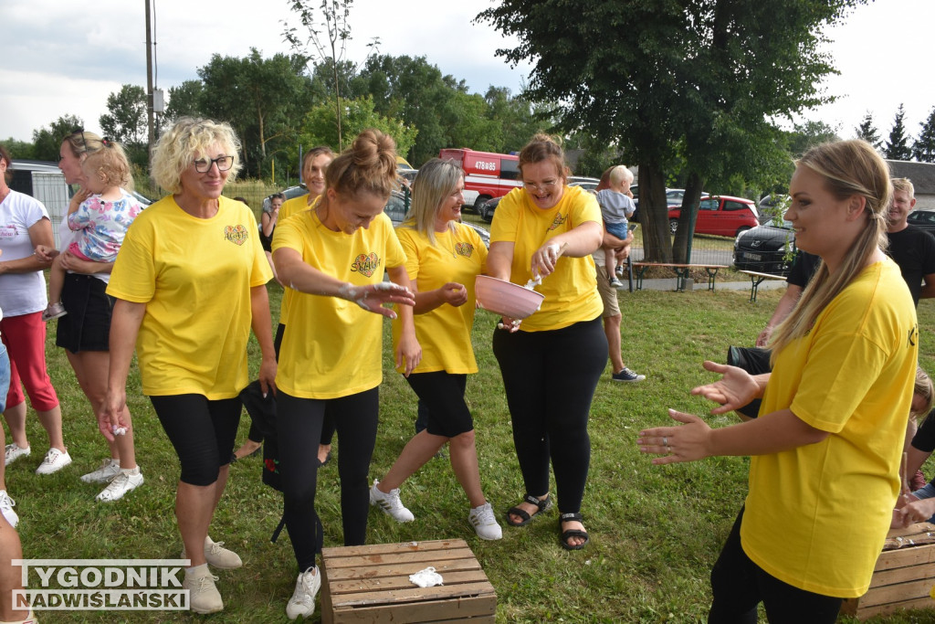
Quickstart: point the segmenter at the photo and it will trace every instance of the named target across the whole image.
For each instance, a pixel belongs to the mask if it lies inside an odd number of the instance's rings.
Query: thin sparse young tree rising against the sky
[[[299,22],[306,29],[307,35],[300,36],[295,27],[286,26],[282,36],[301,56],[310,59],[317,56],[321,61],[331,62],[335,93],[335,120],[338,125],[338,149],[343,148],[341,136],[341,88],[338,80],[338,66],[347,51],[347,42],[351,39],[351,26],[348,17],[351,14],[353,0],[322,0],[316,11],[306,0],[291,0],[292,10],[298,15]],[[319,13],[321,15],[319,15]],[[324,24],[321,20],[324,19]],[[324,29],[324,31],[323,31]],[[323,38],[324,36],[324,38]],[[315,54],[309,54],[309,44]]]

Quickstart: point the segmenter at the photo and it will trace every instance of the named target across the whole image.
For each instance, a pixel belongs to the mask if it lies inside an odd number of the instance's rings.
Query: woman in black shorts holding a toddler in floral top
[[[59,149],[59,168],[65,176],[65,182],[79,184],[79,190],[72,197],[72,205],[79,206],[92,196],[87,188],[87,178],[83,171],[85,161],[91,154],[100,155],[105,148],[103,139],[93,132],[76,130],[62,139]],[[120,210],[138,211],[137,199],[122,192],[123,198],[118,204]],[[104,399],[108,391],[108,368],[110,365],[109,334],[110,314],[113,311],[113,299],[107,295],[110,271],[113,262],[95,262],[81,258],[68,251],[69,242],[76,233],[68,227],[64,219],[59,226],[59,262],[65,268],[65,282],[62,285],[62,305],[65,316],[59,318],[55,327],[55,345],[65,349],[65,356],[81,391],[91,403],[94,416],[108,443],[109,457],[101,460],[100,467],[81,476],[81,481],[93,484],[105,484],[97,495],[98,501],[116,501],[128,491],[143,483],[143,475],[137,466],[137,453],[134,444],[134,428],[130,411],[126,408],[123,422],[127,424],[126,433],[116,438],[108,431],[108,423],[102,419]],[[118,246],[119,249],[119,246]]]

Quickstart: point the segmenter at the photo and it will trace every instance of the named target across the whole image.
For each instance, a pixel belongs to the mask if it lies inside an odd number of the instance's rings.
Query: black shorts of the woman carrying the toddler
[[[65,273],[62,304],[68,313],[58,319],[56,346],[72,353],[110,350],[110,314],[116,299],[108,296],[107,287],[92,275]]]

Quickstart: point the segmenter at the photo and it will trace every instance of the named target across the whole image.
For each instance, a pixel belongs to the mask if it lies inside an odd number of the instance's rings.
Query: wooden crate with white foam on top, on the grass
[[[443,585],[409,575],[432,566]],[[322,550],[322,622],[493,622],[496,592],[464,540]]]

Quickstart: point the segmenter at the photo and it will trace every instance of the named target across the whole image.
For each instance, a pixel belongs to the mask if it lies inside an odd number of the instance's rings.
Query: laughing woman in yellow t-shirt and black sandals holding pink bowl
[[[545,299],[522,325],[504,319],[494,332],[526,490],[507,523],[524,526],[552,506],[551,460],[559,543],[578,550],[588,541],[581,515],[591,460],[587,421],[608,353],[591,258],[603,221],[595,196],[566,184],[565,157],[551,138],[534,137],[520,152],[519,168],[523,188],[496,208],[487,272],[513,283],[540,277]]]

